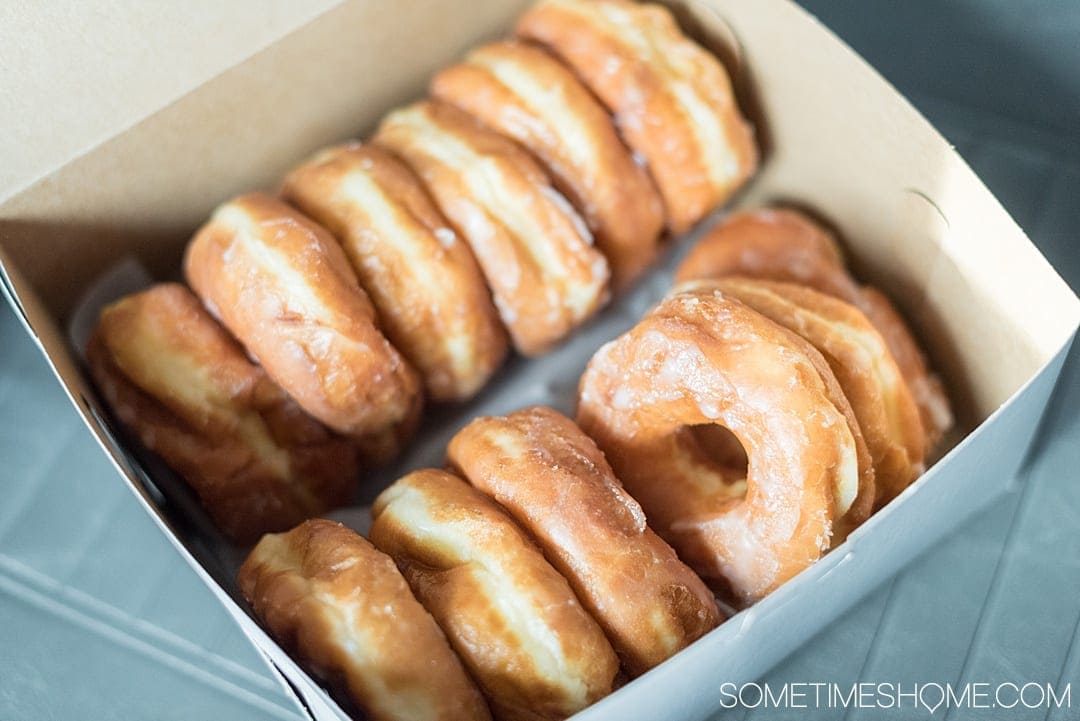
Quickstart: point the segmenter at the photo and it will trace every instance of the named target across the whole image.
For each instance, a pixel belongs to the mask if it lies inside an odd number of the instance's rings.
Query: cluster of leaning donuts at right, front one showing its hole
[[[730,216],[676,280],[590,360],[577,421],[679,558],[751,603],[924,471],[949,403],[891,302],[795,210]]]

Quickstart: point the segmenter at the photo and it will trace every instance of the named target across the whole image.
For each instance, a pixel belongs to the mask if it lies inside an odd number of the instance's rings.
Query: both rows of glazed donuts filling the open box
[[[426,398],[552,349],[756,168],[724,68],[667,10],[541,0],[515,35],[369,142],[221,205],[187,249],[194,293],[121,299],[87,348],[116,417],[226,534],[261,535],[255,615],[365,718],[576,713],[715,628],[714,591],[751,603],[827,553],[951,424],[832,236],[743,213],[596,353],[578,424],[473,421],[445,470],[378,496],[369,541],[312,519]]]

